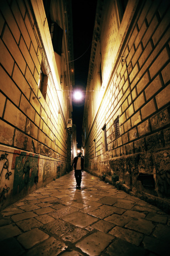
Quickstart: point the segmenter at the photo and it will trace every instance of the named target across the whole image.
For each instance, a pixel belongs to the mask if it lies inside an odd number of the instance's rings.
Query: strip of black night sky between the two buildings
[[[97,0],[72,0],[73,49],[75,60],[75,86],[73,86],[73,90],[86,90],[92,46],[91,43],[96,16],[96,6]],[[79,58],[80,56],[82,57]],[[72,100],[72,119],[73,124],[76,125],[78,143],[77,147],[81,147],[82,119],[85,95],[86,92],[83,93],[83,99],[81,101],[75,101],[74,99]]]

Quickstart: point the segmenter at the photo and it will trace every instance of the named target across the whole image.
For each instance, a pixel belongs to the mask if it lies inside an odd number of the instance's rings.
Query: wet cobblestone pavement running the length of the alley
[[[84,172],[37,189],[1,212],[1,256],[170,255],[170,216]]]

